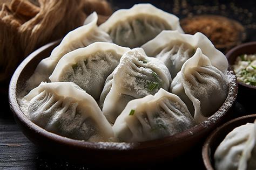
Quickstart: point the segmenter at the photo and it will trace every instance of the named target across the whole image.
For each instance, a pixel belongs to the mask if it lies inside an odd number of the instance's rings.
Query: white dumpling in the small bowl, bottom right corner
[[[214,153],[217,170],[251,170],[256,168],[256,125],[247,123],[227,134]]]

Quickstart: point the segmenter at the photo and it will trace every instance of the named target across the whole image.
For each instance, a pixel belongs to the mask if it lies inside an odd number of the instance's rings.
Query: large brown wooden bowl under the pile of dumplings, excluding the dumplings
[[[90,143],[81,140],[69,139],[48,132],[32,123],[19,108],[17,97],[24,89],[26,80],[32,75],[37,64],[50,55],[52,49],[60,41],[52,42],[33,52],[17,68],[12,76],[9,87],[9,103],[14,118],[22,132],[43,151],[79,162],[134,164],[145,162],[159,162],[170,160],[190,150],[196,144],[202,142],[209,132],[217,128],[232,114],[232,105],[237,97],[237,81],[234,72],[230,71],[233,81],[225,103],[207,121],[194,126],[182,133],[175,134],[157,140],[142,143]],[[216,116],[219,115],[219,116]],[[103,164],[105,165],[105,164]]]

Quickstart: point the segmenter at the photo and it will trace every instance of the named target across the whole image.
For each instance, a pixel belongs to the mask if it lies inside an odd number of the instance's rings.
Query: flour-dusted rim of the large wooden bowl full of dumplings
[[[237,79],[235,78],[234,81],[229,81],[229,87],[228,87],[228,94],[225,102],[221,105],[218,111],[215,112],[211,117],[209,117],[206,121],[201,122],[200,124],[193,126],[190,129],[187,129],[181,133],[174,134],[172,136],[160,138],[160,139],[154,139],[150,141],[143,141],[143,142],[136,142],[136,143],[117,143],[117,142],[88,142],[83,140],[76,140],[71,139],[63,136],[59,136],[58,134],[48,132],[41,128],[40,126],[36,125],[28,117],[25,116],[25,114],[22,112],[21,108],[19,107],[18,101],[17,101],[17,82],[19,80],[19,77],[21,76],[21,73],[23,69],[28,65],[28,63],[39,53],[43,52],[45,49],[56,45],[60,42],[60,40],[53,41],[47,45],[42,46],[41,48],[38,48],[36,51],[31,53],[25,60],[22,61],[22,63],[17,67],[15,70],[14,75],[11,78],[10,85],[9,85],[9,105],[12,110],[12,113],[14,116],[18,118],[18,121],[21,121],[22,124],[26,126],[26,128],[31,129],[32,131],[36,133],[41,133],[41,135],[44,138],[47,138],[51,141],[55,141],[59,144],[65,144],[68,146],[76,147],[76,148],[85,148],[88,150],[105,150],[105,151],[124,151],[124,150],[153,150],[158,147],[165,147],[170,146],[173,143],[177,143],[177,141],[183,141],[183,140],[190,140],[192,136],[200,135],[200,133],[194,133],[194,132],[203,132],[207,129],[207,126],[210,126],[212,124],[218,123],[221,121],[221,118],[225,117],[227,114],[227,111],[230,110],[235,102],[235,99],[237,98],[238,93],[238,83]],[[235,76],[232,69],[230,69],[230,74],[232,76]],[[233,88],[231,88],[233,87]],[[224,111],[224,114],[223,114]],[[218,117],[215,117],[216,114],[221,114]],[[214,116],[215,115],[215,116]],[[157,145],[156,145],[157,144]]]

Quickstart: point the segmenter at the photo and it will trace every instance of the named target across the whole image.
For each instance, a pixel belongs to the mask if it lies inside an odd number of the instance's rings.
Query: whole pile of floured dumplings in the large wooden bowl
[[[25,84],[19,106],[33,123],[90,142],[143,142],[207,121],[225,102],[225,55],[202,33],[151,4],[97,13],[68,33]]]

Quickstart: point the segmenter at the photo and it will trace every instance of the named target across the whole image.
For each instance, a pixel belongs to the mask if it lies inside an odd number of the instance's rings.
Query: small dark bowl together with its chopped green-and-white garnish
[[[238,79],[238,102],[247,111],[255,110],[256,96],[256,41],[241,44],[226,54],[228,63]]]

